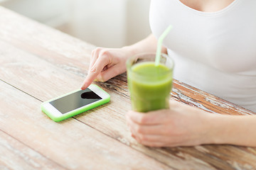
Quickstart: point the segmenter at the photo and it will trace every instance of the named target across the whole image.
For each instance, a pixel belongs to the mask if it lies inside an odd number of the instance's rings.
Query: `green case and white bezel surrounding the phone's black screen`
[[[91,84],[90,86],[97,86],[97,85]],[[97,88],[100,89],[100,91],[102,91],[102,93],[106,94],[106,95],[107,95],[107,98],[103,98],[103,99],[101,99],[100,101],[95,101],[95,102],[93,102],[93,103],[88,104],[87,106],[83,106],[83,107],[81,107],[81,108],[75,109],[75,111],[70,111],[70,112],[65,113],[65,114],[63,114],[63,115],[61,115],[61,116],[58,116],[58,117],[56,117],[55,115],[53,115],[52,113],[50,113],[50,111],[48,111],[48,110],[44,107],[44,105],[45,105],[46,103],[49,103],[50,101],[54,101],[54,100],[56,100],[56,99],[58,99],[58,98],[62,98],[62,97],[64,97],[64,96],[68,96],[69,94],[73,94],[73,93],[75,93],[76,91],[80,91],[80,89],[78,89],[78,90],[75,90],[75,91],[71,91],[71,92],[68,93],[68,94],[64,94],[64,95],[62,95],[62,96],[58,96],[58,97],[56,97],[56,98],[50,99],[49,101],[43,102],[43,103],[41,104],[41,110],[43,111],[43,113],[46,113],[46,115],[48,115],[48,117],[51,118],[52,120],[54,120],[55,122],[60,122],[61,120],[65,120],[65,119],[67,119],[67,118],[71,118],[71,117],[73,117],[74,115],[78,115],[78,114],[83,113],[83,112],[85,112],[85,111],[88,111],[88,110],[90,110],[90,109],[92,109],[92,108],[96,108],[97,106],[101,106],[101,105],[103,105],[103,104],[105,104],[105,103],[108,103],[108,102],[110,101],[110,95],[107,94],[106,91],[102,90],[99,86],[97,86]]]

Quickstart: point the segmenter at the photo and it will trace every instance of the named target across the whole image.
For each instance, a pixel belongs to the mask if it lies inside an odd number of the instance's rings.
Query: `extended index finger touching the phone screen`
[[[97,77],[97,75],[102,72],[102,69],[109,64],[110,60],[108,60],[108,57],[106,55],[103,55],[102,57],[99,57],[95,64],[90,69],[87,77],[85,78],[85,81],[82,83],[82,90],[85,90],[90,84],[92,84],[92,81],[94,81]]]

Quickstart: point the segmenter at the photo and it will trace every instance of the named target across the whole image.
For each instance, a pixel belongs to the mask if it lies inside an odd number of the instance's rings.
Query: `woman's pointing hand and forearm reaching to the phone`
[[[89,73],[82,83],[81,89],[86,89],[92,81],[107,81],[112,77],[126,71],[125,62],[128,57],[141,52],[156,52],[157,40],[154,35],[149,35],[134,45],[122,48],[102,48],[97,47],[92,51]],[[166,47],[162,47],[161,52],[166,53]]]

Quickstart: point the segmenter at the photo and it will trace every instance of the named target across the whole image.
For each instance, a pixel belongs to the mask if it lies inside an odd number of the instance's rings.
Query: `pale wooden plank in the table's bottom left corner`
[[[0,169],[65,169],[0,130]]]

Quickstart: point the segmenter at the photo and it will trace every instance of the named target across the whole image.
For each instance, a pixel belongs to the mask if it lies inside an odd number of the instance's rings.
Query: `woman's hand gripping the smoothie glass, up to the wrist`
[[[209,142],[210,117],[213,114],[170,101],[170,109],[127,113],[127,124],[142,145],[176,147]]]

